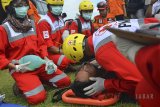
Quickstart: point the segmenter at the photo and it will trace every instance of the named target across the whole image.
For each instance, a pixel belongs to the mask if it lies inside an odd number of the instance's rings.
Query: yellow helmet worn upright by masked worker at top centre
[[[90,0],[83,0],[79,5],[79,11],[81,10],[93,10],[93,3]]]

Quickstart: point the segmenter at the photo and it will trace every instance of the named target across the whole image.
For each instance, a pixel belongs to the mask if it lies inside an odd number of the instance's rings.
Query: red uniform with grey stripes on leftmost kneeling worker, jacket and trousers
[[[0,69],[7,68],[13,59],[20,59],[25,55],[38,55],[42,58],[48,56],[47,46],[43,38],[36,35],[32,28],[26,33],[15,32],[8,22],[0,26]],[[70,85],[70,78],[57,69],[53,74],[48,75],[45,65],[32,72],[20,73],[10,69],[11,76],[26,96],[30,104],[37,104],[45,100],[46,91],[42,82],[57,87]]]

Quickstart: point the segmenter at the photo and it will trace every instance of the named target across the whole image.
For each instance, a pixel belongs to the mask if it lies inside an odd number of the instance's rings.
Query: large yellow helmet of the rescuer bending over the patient
[[[62,49],[64,55],[76,62],[79,62],[83,56],[83,40],[85,35],[83,34],[71,34],[63,42]]]

